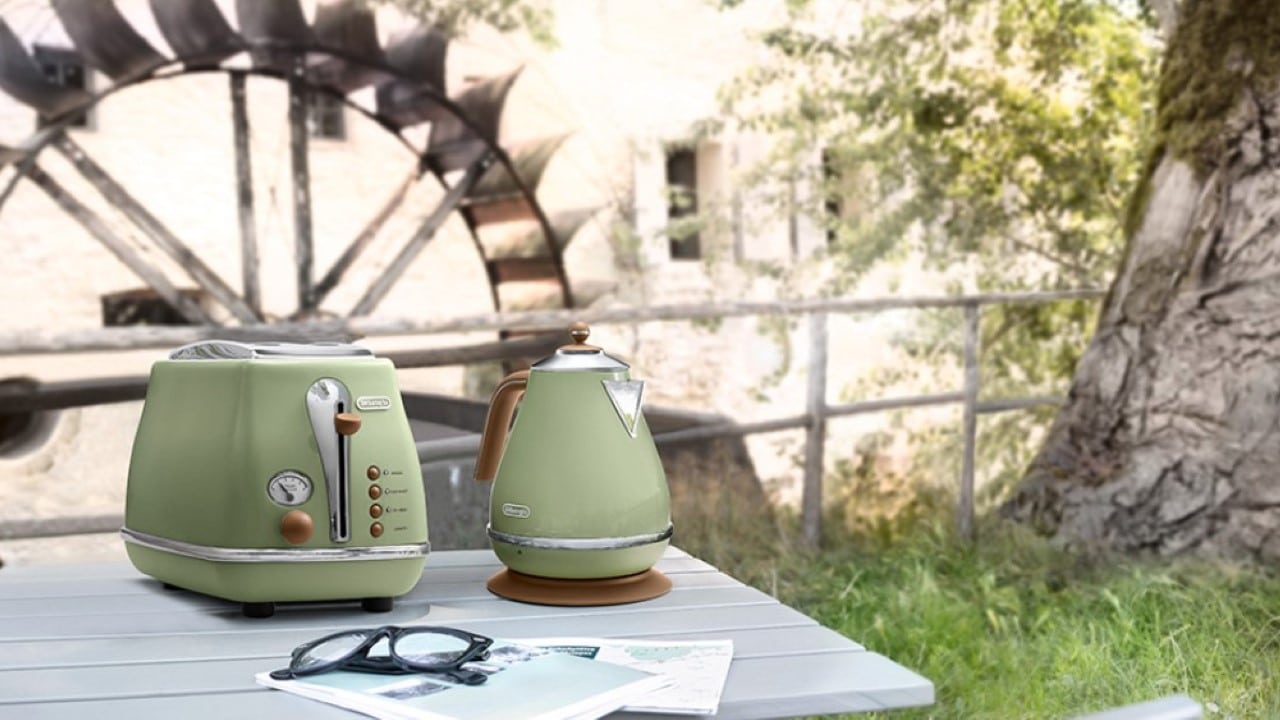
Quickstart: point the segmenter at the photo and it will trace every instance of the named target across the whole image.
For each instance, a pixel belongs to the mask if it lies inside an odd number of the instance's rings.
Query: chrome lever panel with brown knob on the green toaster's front
[[[325,491],[329,498],[329,539],[351,539],[351,433],[360,429],[360,416],[355,415],[355,428],[346,421],[353,414],[351,392],[333,378],[320,378],[307,389],[307,416],[320,451]],[[349,432],[343,432],[344,429]]]

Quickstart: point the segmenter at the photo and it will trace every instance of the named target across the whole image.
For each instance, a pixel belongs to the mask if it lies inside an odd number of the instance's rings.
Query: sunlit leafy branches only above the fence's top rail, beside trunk
[[[810,179],[845,200],[858,178],[868,211],[809,208],[849,273],[918,251],[936,268],[977,260],[991,290],[1107,277],[1152,122],[1156,46],[1137,17],[1101,0],[904,0],[841,36],[797,5],[762,38],[773,61],[726,101],[782,138],[777,172],[820,146],[835,172]],[[756,101],[763,87],[787,101]]]

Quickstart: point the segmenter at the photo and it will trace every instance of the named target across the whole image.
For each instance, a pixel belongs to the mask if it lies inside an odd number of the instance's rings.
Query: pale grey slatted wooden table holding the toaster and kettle
[[[500,600],[488,550],[434,552],[422,582],[387,614],[357,605],[279,606],[270,619],[165,591],[128,564],[0,570],[0,717],[358,717],[268,691],[253,674],[348,626],[429,623],[499,638],[730,638],[735,659],[718,719],[929,705],[933,685],[680,550],[658,568],[675,587],[648,602],[544,607]],[[620,715],[621,716],[621,715]],[[636,715],[636,717],[657,717]]]

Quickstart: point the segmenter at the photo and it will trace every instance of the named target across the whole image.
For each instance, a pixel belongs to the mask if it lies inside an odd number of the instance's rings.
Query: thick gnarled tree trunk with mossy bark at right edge
[[[1158,161],[1006,514],[1073,544],[1280,560],[1280,1],[1183,8]]]

